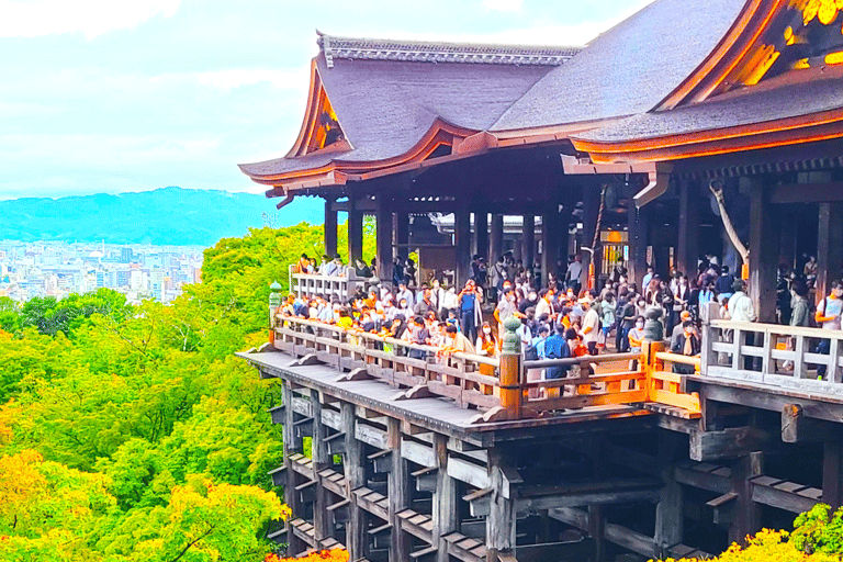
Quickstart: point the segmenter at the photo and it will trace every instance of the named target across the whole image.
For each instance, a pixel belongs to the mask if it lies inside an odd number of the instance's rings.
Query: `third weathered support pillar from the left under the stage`
[[[358,507],[355,495],[350,492],[366,485],[366,449],[362,441],[355,437],[355,405],[344,402],[340,409],[345,452],[342,453],[342,470],[348,483],[351,497],[350,517],[346,524],[346,549],[351,560],[364,559],[369,554],[369,514]]]

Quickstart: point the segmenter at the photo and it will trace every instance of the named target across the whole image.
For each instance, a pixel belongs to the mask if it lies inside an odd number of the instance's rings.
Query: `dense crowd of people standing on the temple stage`
[[[517,334],[525,359],[595,356],[603,350],[640,352],[648,310],[651,317],[659,318],[670,349],[685,356],[700,352],[700,311],[708,303],[716,303],[720,317],[757,319],[745,282],[710,255],[699,260],[693,274],[671,271],[662,277],[648,267],[640,285],[618,263],[599,290],[583,288],[587,279],[580,255],[571,256],[566,266],[558,263],[543,286],[538,263],[525,267],[512,254],[498,257],[492,267],[483,257],[473,256],[472,277],[460,288],[446,286],[436,274],[419,282],[415,261],[408,258],[396,258],[386,276],[375,260],[371,265],[352,261],[345,266],[339,256],[323,256],[316,267],[315,260],[302,255],[296,271],[344,276],[351,267],[357,277],[371,279],[369,290],[360,288],[347,302],[290,295],[283,312],[411,344],[492,357],[501,350],[504,323],[516,317],[521,323]],[[798,326],[813,321],[840,329],[843,284],[832,285],[832,294],[812,314],[809,291],[816,260],[807,260],[803,272],[779,271],[780,321]],[[382,281],[384,277],[387,282]],[[547,374],[562,375],[563,369]]]

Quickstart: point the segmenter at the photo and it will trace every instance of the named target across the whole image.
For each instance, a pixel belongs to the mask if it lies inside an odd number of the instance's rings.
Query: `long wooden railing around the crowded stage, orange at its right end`
[[[483,413],[476,422],[644,402],[685,408],[692,416],[699,414],[699,398],[686,393],[685,375],[664,370],[671,363],[698,366],[699,358],[663,353],[662,344],[651,344],[642,355],[521,361],[520,356],[506,353],[501,359],[443,355],[431,346],[284,315],[276,321],[277,348],[349,371],[348,380],[379,379],[404,387],[396,398],[436,395],[461,407],[479,407]],[[555,368],[565,371],[564,378],[543,375]]]

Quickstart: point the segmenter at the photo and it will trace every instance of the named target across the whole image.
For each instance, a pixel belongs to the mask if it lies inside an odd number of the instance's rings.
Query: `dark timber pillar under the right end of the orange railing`
[[[659,504],[655,506],[655,555],[666,558],[668,549],[682,542],[684,532],[684,495],[682,485],[676,482],[674,462],[678,458],[684,436],[673,431],[659,432],[659,470],[664,486]]]

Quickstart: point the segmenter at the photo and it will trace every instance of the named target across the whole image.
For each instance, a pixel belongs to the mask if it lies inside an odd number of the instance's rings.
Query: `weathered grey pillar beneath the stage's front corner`
[[[506,480],[506,458],[498,448],[488,451],[488,482],[492,488],[486,517],[486,561],[497,562],[515,554],[516,491]],[[508,488],[508,490],[507,490]],[[508,494],[507,494],[508,492]],[[506,496],[509,497],[506,497]]]

